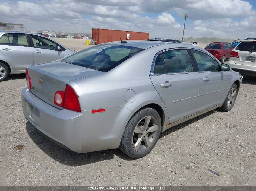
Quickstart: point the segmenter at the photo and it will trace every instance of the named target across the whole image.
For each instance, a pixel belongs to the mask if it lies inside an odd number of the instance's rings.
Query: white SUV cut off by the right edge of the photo
[[[256,38],[242,40],[231,51],[228,65],[243,75],[256,76]]]

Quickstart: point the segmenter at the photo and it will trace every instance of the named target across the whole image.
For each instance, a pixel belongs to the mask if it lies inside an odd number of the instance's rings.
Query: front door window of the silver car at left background
[[[32,37],[33,45],[35,48],[42,48],[42,49],[58,51],[58,46],[55,42],[53,42],[45,37],[40,37],[37,35],[31,35],[31,37]]]

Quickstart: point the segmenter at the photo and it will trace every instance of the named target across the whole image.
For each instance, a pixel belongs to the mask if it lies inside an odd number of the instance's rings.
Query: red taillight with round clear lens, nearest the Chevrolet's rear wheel
[[[77,94],[69,85],[66,85],[65,91],[55,92],[54,104],[68,110],[81,112]]]

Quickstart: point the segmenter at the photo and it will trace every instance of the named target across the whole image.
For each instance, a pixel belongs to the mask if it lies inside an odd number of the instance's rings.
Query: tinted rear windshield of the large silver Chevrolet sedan
[[[74,53],[61,61],[108,72],[143,50],[132,46],[102,44]]]

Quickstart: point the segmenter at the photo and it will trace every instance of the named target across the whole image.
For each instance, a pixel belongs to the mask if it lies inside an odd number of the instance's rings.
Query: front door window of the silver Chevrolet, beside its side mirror
[[[197,50],[191,50],[191,52],[197,62],[199,71],[219,71],[219,65],[213,58]]]

